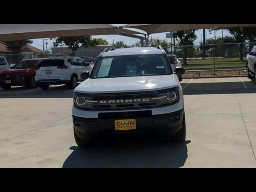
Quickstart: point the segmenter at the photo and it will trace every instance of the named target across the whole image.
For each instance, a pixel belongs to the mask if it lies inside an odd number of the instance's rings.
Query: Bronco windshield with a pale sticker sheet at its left
[[[99,58],[92,78],[171,74],[164,54],[128,55]]]

